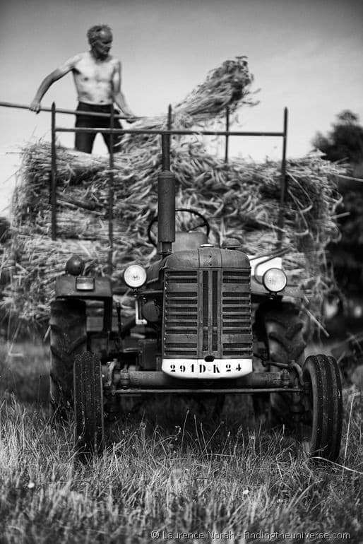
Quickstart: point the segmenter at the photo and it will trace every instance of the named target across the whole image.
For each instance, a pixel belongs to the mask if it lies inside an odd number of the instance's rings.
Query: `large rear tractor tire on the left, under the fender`
[[[50,304],[50,404],[55,418],[69,420],[73,411],[73,364],[87,350],[85,302]]]

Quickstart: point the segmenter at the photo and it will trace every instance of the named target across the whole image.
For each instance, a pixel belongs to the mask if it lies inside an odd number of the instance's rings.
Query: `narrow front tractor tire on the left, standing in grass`
[[[104,413],[102,367],[94,353],[77,355],[74,362],[74,446],[83,461],[102,453],[104,448]]]

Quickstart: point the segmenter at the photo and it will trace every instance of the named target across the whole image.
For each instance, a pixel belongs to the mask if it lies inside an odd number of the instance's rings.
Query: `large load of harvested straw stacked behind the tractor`
[[[218,119],[229,105],[234,111],[251,104],[252,76],[246,59],[226,61],[206,82],[174,107],[173,128],[189,128]],[[144,119],[135,128],[160,128],[165,117]],[[57,148],[57,234],[52,241],[49,205],[50,144],[29,145],[23,153],[23,179],[13,201],[12,281],[3,305],[26,322],[46,323],[54,278],[63,273],[73,253],[86,261],[86,272],[107,273],[107,158]],[[114,273],[116,285],[131,262],[145,266],[156,258],[148,243],[148,223],[157,206],[157,174],[161,170],[160,138],[126,136],[114,158]],[[177,207],[196,208],[210,219],[217,244],[236,237],[249,254],[268,254],[278,247],[280,163],[244,160],[226,165],[210,155],[200,141],[174,138],[171,170],[177,177]],[[285,208],[284,264],[292,280],[310,290],[319,317],[323,292],[331,277],[324,249],[338,237],[334,213],[339,196],[338,173],[319,156],[289,161]],[[191,216],[179,215],[177,227],[188,230]],[[123,309],[131,301],[123,300]]]

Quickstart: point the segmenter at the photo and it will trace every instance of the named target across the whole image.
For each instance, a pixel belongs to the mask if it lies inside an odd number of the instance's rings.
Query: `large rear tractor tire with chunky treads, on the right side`
[[[263,341],[266,344],[268,359],[270,361],[288,364],[292,360],[302,366],[305,357],[304,350],[304,321],[299,317],[299,308],[290,303],[280,303],[274,306],[258,309],[256,318],[262,331]],[[278,367],[270,366],[270,370],[276,372]],[[268,401],[266,400],[268,397]],[[264,397],[263,402],[254,402],[255,407],[261,413],[261,404],[268,403],[269,427],[285,425],[287,430],[294,430],[290,408],[292,406],[292,394],[271,393]],[[256,408],[255,408],[256,411]],[[266,408],[265,408],[266,411]]]

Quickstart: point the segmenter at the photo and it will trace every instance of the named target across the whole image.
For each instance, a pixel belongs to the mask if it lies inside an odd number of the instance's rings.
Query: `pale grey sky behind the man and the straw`
[[[114,32],[112,53],[123,66],[123,90],[138,115],[165,112],[225,59],[246,55],[260,104],[239,116],[245,130],[282,129],[289,108],[287,153],[305,155],[315,132],[341,110],[363,121],[362,0],[13,0],[0,8],[0,100],[29,104],[42,78],[76,52],[96,23]],[[71,74],[42,104],[74,109]],[[49,114],[0,107],[0,213],[14,181],[17,149],[49,139]],[[73,119],[59,116],[58,124]],[[237,127],[235,127],[237,129]],[[99,139],[98,139],[99,138]],[[61,142],[73,146],[73,135]],[[232,153],[280,158],[278,139],[232,138]],[[100,136],[95,151],[105,153]]]

